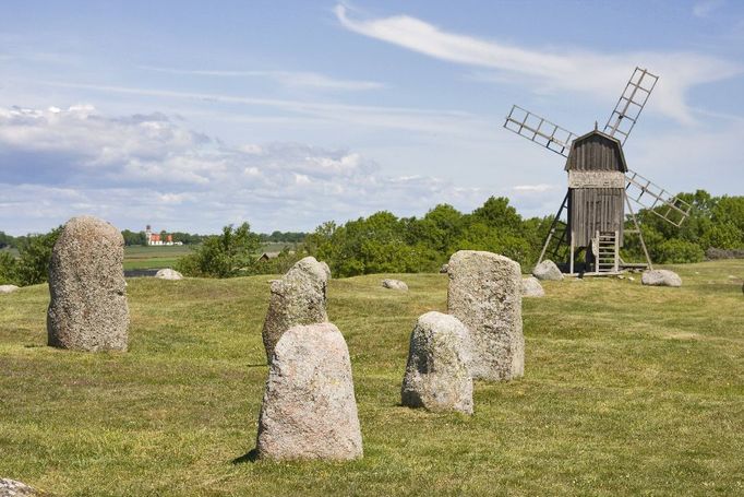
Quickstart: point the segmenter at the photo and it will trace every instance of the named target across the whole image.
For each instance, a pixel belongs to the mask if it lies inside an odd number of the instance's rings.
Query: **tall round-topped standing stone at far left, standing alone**
[[[49,263],[49,345],[77,351],[125,351],[129,308],[124,239],[92,216],[64,225]]]

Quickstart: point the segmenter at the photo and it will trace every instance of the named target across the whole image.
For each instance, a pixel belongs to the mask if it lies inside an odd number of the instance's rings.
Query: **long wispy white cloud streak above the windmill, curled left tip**
[[[719,58],[693,52],[598,54],[591,51],[535,50],[446,32],[408,15],[359,21],[347,8],[335,8],[344,27],[409,50],[455,63],[488,68],[495,78],[529,83],[540,92],[576,92],[601,99],[614,99],[633,69],[645,66],[661,75],[655,90],[653,111],[680,122],[693,122],[685,102],[694,86],[740,74],[743,67]]]

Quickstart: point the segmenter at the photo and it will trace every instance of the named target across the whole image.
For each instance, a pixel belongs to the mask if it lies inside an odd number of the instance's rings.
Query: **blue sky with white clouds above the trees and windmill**
[[[0,3],[0,230],[312,230],[387,210],[554,213],[565,159],[636,67],[660,76],[624,146],[672,192],[744,194],[744,2]]]

